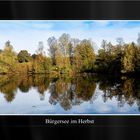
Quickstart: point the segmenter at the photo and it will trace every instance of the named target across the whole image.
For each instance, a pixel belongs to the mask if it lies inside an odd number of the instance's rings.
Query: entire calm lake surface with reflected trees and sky
[[[0,114],[139,113],[139,78],[0,75]]]

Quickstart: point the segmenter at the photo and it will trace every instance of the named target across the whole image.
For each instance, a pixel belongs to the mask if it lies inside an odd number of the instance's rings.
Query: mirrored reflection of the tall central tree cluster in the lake
[[[49,102],[54,105],[59,102],[65,110],[69,110],[73,105],[91,100],[95,89],[96,83],[89,78],[59,78],[50,84]]]

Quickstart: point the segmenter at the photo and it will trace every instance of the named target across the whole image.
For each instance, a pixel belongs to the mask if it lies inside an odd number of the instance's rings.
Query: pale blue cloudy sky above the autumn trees
[[[37,50],[38,42],[43,41],[48,49],[48,37],[59,38],[68,33],[72,38],[91,39],[96,43],[95,51],[103,39],[116,43],[117,37],[125,42],[136,42],[140,33],[140,21],[134,20],[0,20],[0,49],[7,40],[15,51],[27,49],[30,53]]]

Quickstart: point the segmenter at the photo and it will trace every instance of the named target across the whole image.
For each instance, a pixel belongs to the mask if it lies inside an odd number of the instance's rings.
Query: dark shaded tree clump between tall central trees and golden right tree
[[[94,71],[101,73],[120,73],[121,56],[122,50],[120,45],[112,45],[111,42],[108,43],[103,40],[101,49],[98,50],[98,55],[96,56]]]

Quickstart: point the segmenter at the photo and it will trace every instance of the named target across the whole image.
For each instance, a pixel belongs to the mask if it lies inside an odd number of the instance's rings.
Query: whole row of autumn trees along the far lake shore
[[[103,40],[97,53],[95,43],[89,39],[71,38],[62,34],[58,39],[47,40],[49,55],[45,54],[43,42],[39,42],[34,54],[27,50],[14,51],[10,41],[0,50],[0,73],[114,73],[130,74],[140,72],[140,34],[137,43],[125,43],[117,38],[117,44]]]

